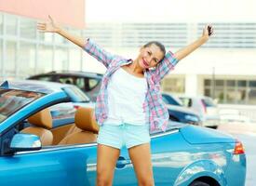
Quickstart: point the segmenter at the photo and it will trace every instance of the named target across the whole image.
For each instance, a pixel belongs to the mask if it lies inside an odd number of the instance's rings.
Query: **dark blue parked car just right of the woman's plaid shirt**
[[[202,119],[198,113],[184,107],[182,101],[169,93],[162,93],[162,98],[168,107],[169,119],[172,121],[202,126]]]

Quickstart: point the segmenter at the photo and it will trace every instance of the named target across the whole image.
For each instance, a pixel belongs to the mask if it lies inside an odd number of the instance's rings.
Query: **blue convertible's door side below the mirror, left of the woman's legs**
[[[0,157],[0,185],[95,185],[96,144],[46,147]]]

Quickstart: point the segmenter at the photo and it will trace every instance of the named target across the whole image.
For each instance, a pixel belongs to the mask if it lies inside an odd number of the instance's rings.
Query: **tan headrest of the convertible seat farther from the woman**
[[[33,126],[44,127],[47,129],[52,128],[52,117],[49,109],[44,109],[28,118],[28,122]]]

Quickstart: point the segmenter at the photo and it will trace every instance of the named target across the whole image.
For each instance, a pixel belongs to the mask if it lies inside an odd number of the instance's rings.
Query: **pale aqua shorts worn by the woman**
[[[97,142],[116,149],[122,149],[123,146],[129,149],[150,142],[149,126],[130,124],[122,124],[120,126],[102,125],[100,126]]]

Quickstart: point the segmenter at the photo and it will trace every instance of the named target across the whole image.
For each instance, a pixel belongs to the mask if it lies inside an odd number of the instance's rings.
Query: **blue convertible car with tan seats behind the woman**
[[[74,121],[53,121],[48,107],[74,101],[70,87],[5,82],[0,86],[0,185],[95,185],[98,126],[92,109],[79,108]],[[151,134],[155,185],[242,186],[242,144],[216,130],[170,122]],[[122,150],[114,185],[137,185]]]

